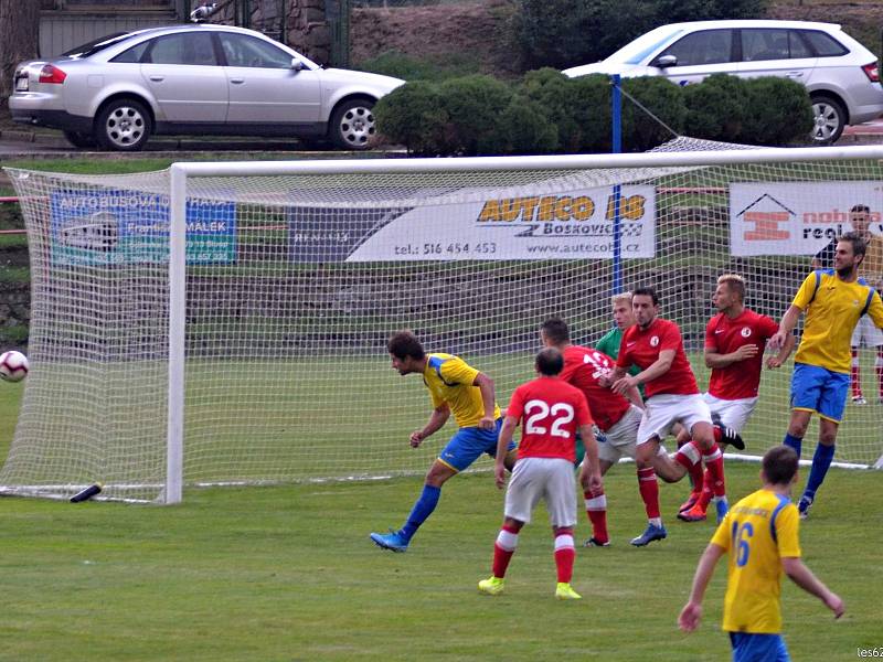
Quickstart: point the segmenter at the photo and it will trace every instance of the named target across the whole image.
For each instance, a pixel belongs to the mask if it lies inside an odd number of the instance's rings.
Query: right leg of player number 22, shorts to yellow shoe
[[[555,597],[560,600],[578,600],[579,594],[571,586],[573,564],[576,558],[573,541],[573,528],[576,526],[573,470],[566,460],[555,458],[544,459],[543,465],[547,471],[544,499],[555,541],[554,556],[557,573]]]

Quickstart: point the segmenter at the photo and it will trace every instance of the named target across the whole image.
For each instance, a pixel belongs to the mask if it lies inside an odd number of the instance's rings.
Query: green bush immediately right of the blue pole
[[[662,77],[625,78],[623,92],[623,151],[647,151],[684,132],[687,105],[679,85]]]

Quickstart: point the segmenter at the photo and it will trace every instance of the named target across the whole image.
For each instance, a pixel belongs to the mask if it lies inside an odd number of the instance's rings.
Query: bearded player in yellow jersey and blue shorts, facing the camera
[[[849,391],[852,330],[863,314],[879,329],[883,328],[883,301],[873,287],[859,278],[866,247],[864,238],[854,232],[840,237],[834,268],[807,276],[783,316],[778,332],[769,339],[772,349],[780,349],[800,314],[806,312],[791,376],[791,419],[784,441],[799,457],[809,419],[813,412],[819,414],[819,444],[807,487],[797,504],[801,517],[807,516],[834,457],[837,428],[843,418]]]

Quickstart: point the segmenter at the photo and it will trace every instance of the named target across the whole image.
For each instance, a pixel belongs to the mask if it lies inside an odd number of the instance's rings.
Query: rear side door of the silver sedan
[[[141,76],[168,121],[223,122],[226,118],[226,75],[208,32],[151,40],[141,57]]]

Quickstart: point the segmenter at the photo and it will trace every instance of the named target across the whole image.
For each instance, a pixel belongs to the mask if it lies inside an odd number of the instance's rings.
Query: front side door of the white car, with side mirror
[[[678,85],[699,83],[712,74],[734,74],[736,70],[732,30],[699,30],[685,34],[653,57],[650,66],[659,66],[664,55],[673,55],[675,62],[662,68],[662,75]]]

